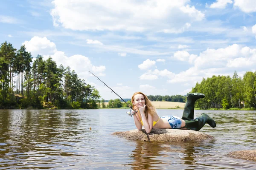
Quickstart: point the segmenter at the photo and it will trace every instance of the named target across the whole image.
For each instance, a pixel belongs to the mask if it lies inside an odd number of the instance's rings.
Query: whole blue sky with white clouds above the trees
[[[1,0],[0,43],[69,66],[105,99],[186,95],[256,69],[255,0]]]

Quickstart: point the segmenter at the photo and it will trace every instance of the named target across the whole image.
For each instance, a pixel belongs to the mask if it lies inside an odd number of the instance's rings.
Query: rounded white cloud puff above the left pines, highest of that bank
[[[22,45],[25,45],[27,51],[30,51],[32,56],[36,55],[52,55],[57,52],[57,48],[54,42],[50,42],[47,37],[32,37],[29,41],[24,41]]]

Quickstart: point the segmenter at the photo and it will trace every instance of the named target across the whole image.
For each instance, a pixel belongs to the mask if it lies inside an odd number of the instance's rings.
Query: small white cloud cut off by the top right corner
[[[256,12],[255,0],[234,0],[234,6],[239,7],[246,13]]]

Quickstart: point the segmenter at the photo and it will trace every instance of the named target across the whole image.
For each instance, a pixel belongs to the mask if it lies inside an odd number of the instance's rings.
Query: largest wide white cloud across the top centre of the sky
[[[201,21],[204,14],[190,0],[53,0],[51,9],[54,26],[72,30],[169,30],[184,27],[186,23]],[[97,11],[96,13],[94,11]],[[150,12],[148,12],[150,11]],[[179,22],[177,22],[179,21]],[[181,29],[183,30],[183,28]]]

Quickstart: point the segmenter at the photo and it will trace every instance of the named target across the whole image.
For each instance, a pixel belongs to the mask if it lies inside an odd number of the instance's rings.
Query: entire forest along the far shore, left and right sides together
[[[127,107],[120,99],[99,100],[99,91],[80,79],[70,67],[57,67],[49,56],[34,59],[24,45],[15,49],[11,43],[0,46],[0,109],[95,109]],[[256,109],[256,71],[239,77],[212,76],[203,78],[192,93],[205,94],[196,102],[201,109]],[[185,95],[185,94],[184,94]],[[151,101],[185,102],[182,95],[148,95]],[[127,102],[131,104],[131,101]],[[102,103],[102,105],[100,104]]]

